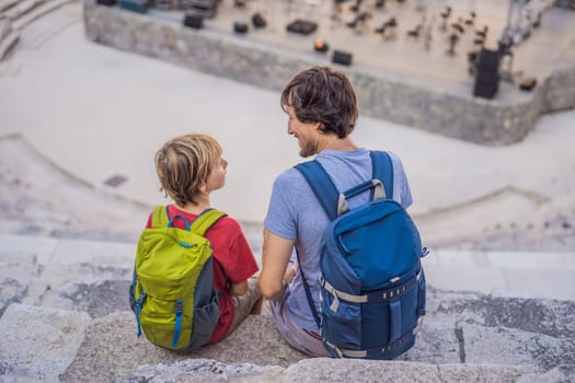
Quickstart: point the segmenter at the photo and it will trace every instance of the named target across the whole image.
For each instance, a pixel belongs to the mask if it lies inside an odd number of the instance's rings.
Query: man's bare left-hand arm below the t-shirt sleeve
[[[294,277],[292,270],[290,270],[290,276],[286,275],[292,248],[294,240],[287,240],[264,229],[262,274],[258,280],[260,291],[264,298],[278,298],[285,283]]]

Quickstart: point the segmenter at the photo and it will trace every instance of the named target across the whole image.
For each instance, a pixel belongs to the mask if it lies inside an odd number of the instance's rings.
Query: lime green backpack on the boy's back
[[[206,210],[192,224],[184,216],[157,206],[151,228],[138,242],[130,306],[152,344],[191,351],[209,341],[219,316],[219,295],[212,287],[212,249],[206,231],[226,213]],[[175,218],[186,230],[172,228]]]

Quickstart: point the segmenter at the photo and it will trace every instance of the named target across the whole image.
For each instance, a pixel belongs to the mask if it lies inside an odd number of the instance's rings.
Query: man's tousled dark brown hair
[[[281,108],[294,107],[302,123],[321,123],[322,130],[347,137],[358,116],[357,98],[347,76],[329,67],[297,73],[281,92]]]

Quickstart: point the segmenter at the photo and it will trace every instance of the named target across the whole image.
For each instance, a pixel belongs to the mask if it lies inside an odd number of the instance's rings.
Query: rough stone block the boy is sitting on
[[[308,358],[286,344],[269,316],[248,317],[240,327],[219,344],[177,355],[136,337],[131,312],[113,313],[94,320],[74,361],[61,376],[65,382],[113,382],[128,379],[141,364],[171,363],[185,359],[207,358],[225,363],[254,363],[287,367]],[[97,374],[94,373],[97,371]]]

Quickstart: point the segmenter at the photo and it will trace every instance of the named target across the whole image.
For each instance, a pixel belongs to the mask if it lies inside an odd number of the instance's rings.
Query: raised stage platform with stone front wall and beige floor
[[[575,106],[571,10],[552,7],[544,12],[541,25],[515,49],[515,83],[502,81],[495,97],[487,100],[473,96],[468,54],[478,48],[476,31],[485,27],[484,46],[497,47],[507,1],[387,1],[383,9],[364,1],[361,11],[369,16],[356,28],[347,25],[358,14],[350,10],[353,3],[344,2],[335,11],[333,1],[321,0],[253,0],[242,8],[221,1],[216,15],[193,30],[182,25],[183,11],[150,9],[138,14],[84,0],[84,22],[87,35],[95,42],[273,90],[280,90],[306,67],[332,65],[334,49],[350,53],[350,66],[335,66],[349,73],[361,113],[478,143],[519,141],[540,114]],[[448,31],[442,31],[440,14],[446,7],[451,15]],[[473,25],[465,25],[472,12]],[[255,13],[266,21],[265,27],[254,27]],[[391,18],[398,23],[395,37],[375,32]],[[317,23],[317,31],[287,32],[297,19]],[[450,24],[458,20],[464,30],[450,55]],[[234,33],[234,22],[246,23],[248,33]],[[409,36],[417,25],[419,37]],[[318,38],[329,45],[327,53],[314,51]],[[537,79],[531,92],[518,88],[526,77]]]

